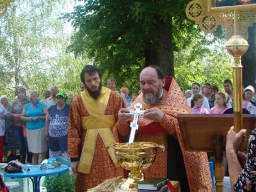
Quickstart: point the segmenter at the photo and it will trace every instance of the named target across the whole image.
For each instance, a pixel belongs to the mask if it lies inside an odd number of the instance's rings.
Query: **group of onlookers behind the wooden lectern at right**
[[[186,90],[184,96],[194,114],[231,113],[234,106],[232,81],[223,81],[225,92],[219,92],[216,84],[205,83],[202,90],[200,84],[193,83],[191,90]],[[243,88],[243,113],[256,116],[255,89],[252,85]],[[231,110],[230,110],[231,109]]]

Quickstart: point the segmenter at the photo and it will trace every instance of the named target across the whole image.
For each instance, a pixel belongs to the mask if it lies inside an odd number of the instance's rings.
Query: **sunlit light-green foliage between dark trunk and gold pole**
[[[207,35],[207,38],[212,37]],[[223,90],[223,80],[232,79],[232,58],[227,54],[224,42],[219,40],[214,45],[201,46],[193,40],[185,50],[175,53],[175,77],[184,90],[190,90],[195,82],[217,84]]]

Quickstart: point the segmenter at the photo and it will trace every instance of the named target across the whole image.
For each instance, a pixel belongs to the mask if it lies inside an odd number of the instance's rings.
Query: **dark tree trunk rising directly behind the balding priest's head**
[[[157,51],[145,49],[145,67],[157,65],[163,70],[164,76],[174,77],[172,17],[169,17],[166,21],[159,20],[157,31],[158,49]]]

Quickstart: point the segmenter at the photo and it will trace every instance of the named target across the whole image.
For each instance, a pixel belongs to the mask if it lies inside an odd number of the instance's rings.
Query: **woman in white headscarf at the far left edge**
[[[6,95],[1,95],[0,97],[1,104],[4,106],[8,115],[5,118],[5,131],[8,133],[8,143],[4,143],[4,161],[12,161],[17,159],[16,151],[19,148],[17,140],[15,138],[15,134],[13,131],[13,127],[10,122],[10,111],[12,109],[12,105],[10,104],[8,97]],[[10,155],[8,157],[8,153]]]

